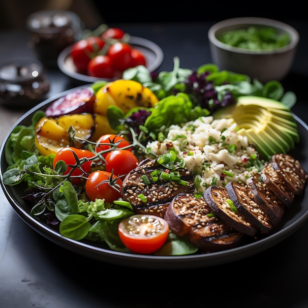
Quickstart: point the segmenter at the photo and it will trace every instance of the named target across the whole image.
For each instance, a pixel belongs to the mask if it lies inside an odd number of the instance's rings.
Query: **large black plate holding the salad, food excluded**
[[[72,89],[73,90],[73,89]],[[44,110],[53,100],[66,95],[68,90],[62,92],[56,96],[45,100],[39,105],[32,108],[23,117],[17,121],[11,130],[8,132],[0,149],[0,182],[3,188],[4,194],[7,197],[9,203],[15,210],[15,212],[36,232],[49,239],[50,241],[74,251],[78,254],[87,256],[89,258],[100,260],[107,263],[125,265],[136,268],[149,268],[149,269],[188,269],[188,268],[200,268],[213,265],[225,264],[232,261],[244,259],[246,257],[257,254],[264,251],[279,242],[283,241],[296,230],[298,230],[308,219],[308,186],[305,188],[305,192],[300,196],[297,196],[293,207],[289,209],[283,216],[283,219],[274,230],[274,232],[266,237],[260,237],[253,242],[247,242],[245,245],[232,248],[225,251],[212,252],[208,254],[195,254],[187,256],[154,256],[154,255],[138,255],[123,253],[103,248],[102,246],[95,246],[97,244],[78,242],[63,237],[59,232],[51,229],[46,224],[37,221],[30,215],[30,208],[24,203],[22,196],[24,191],[21,186],[6,186],[2,181],[2,174],[7,168],[4,155],[4,146],[7,142],[9,134],[16,125],[30,125],[31,117],[37,110]],[[294,118],[298,124],[298,130],[301,138],[301,142],[297,144],[296,148],[290,153],[293,157],[299,159],[303,168],[308,170],[308,126],[300,118],[294,115]]]

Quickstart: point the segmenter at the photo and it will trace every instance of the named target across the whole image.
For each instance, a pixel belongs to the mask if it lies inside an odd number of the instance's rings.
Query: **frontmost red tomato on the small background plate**
[[[87,72],[89,76],[99,78],[113,78],[115,71],[112,67],[111,60],[108,56],[98,55],[88,64]]]

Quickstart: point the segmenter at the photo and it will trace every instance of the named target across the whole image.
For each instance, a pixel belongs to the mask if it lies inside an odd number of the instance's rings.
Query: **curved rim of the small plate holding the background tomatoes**
[[[156,43],[154,43],[153,41],[150,41],[147,38],[143,38],[139,36],[130,36],[129,43],[136,45],[136,46],[145,47],[151,50],[151,52],[155,54],[156,58],[154,62],[151,63],[149,66],[147,66],[149,72],[153,72],[161,65],[164,59],[164,54],[163,54],[162,49]],[[81,74],[81,73],[78,73],[76,71],[72,71],[71,69],[69,69],[67,65],[65,65],[65,61],[69,57],[72,46],[73,44],[65,47],[57,58],[57,64],[58,64],[59,69],[62,71],[62,73],[64,73],[65,75],[73,79],[84,81],[84,82],[90,82],[90,83],[93,83],[95,81],[99,81],[102,79],[106,81],[114,80],[114,79],[109,79],[109,78],[99,78],[99,77],[88,76],[88,75],[84,75],[84,74]]]

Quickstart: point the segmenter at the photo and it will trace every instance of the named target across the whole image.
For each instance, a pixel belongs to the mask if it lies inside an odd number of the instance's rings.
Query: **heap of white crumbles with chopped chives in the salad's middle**
[[[198,191],[229,181],[246,183],[248,175],[258,172],[257,168],[246,168],[250,154],[257,155],[257,152],[249,146],[246,136],[237,133],[236,127],[233,119],[200,117],[182,125],[171,125],[165,140],[150,142],[147,147],[161,155],[168,153],[172,144],[178,156],[185,160],[186,168],[195,174]]]

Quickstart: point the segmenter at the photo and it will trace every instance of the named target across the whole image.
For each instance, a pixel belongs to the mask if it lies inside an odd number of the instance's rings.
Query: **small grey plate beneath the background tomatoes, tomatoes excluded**
[[[154,42],[142,37],[131,36],[129,39],[129,44],[132,47],[142,51],[147,59],[147,68],[150,72],[153,72],[155,69],[157,69],[163,61],[164,55],[162,49]],[[66,47],[58,56],[58,66],[62,73],[76,80],[89,83],[101,80],[102,78],[92,77],[77,72],[76,66],[74,65],[70,56],[71,49],[72,46]],[[104,80],[108,79],[104,78]]]

